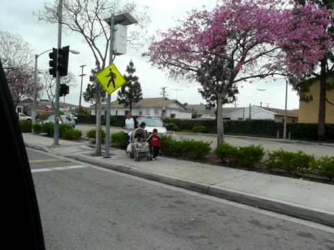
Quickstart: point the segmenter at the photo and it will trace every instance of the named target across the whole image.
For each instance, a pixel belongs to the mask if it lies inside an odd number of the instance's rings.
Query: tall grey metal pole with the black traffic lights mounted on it
[[[56,61],[56,97],[55,97],[55,121],[54,121],[54,145],[59,145],[59,90],[61,88],[61,76],[58,70],[58,56],[61,49],[61,22],[62,22],[62,9],[63,1],[59,0],[58,3],[58,49],[57,49],[57,61]]]

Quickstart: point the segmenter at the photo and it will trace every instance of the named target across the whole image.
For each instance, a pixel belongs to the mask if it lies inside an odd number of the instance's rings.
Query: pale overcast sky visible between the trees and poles
[[[157,0],[137,0],[141,6],[148,6],[148,14],[150,15],[151,23],[148,26],[149,34],[153,34],[157,30],[166,30],[166,28],[175,26],[175,20],[177,18],[184,17],[187,11],[193,8],[202,8],[207,6],[212,8],[216,1],[209,0],[169,0],[169,1],[157,1]],[[31,48],[34,53],[41,53],[51,47],[56,47],[57,44],[57,25],[45,24],[38,22],[38,18],[33,16],[33,11],[42,10],[44,5],[43,0],[10,0],[1,1],[0,8],[0,30],[8,31],[10,33],[21,35],[26,42],[31,44]],[[71,49],[80,51],[79,55],[70,54],[70,66],[69,70],[76,76],[76,88],[70,89],[70,94],[66,96],[66,102],[79,104],[79,83],[81,74],[80,65],[87,65],[84,68],[84,73],[87,76],[84,77],[84,87],[89,83],[88,75],[90,69],[95,65],[93,54],[88,46],[83,42],[80,35],[74,33],[68,33],[63,35],[62,46],[70,45]],[[136,67],[136,75],[139,77],[141,87],[143,90],[143,97],[159,97],[161,88],[168,87],[167,93],[170,99],[177,99],[182,103],[198,104],[204,103],[198,88],[198,83],[189,83],[184,81],[172,81],[166,76],[164,72],[156,69],[148,63],[147,58],[142,58],[141,53],[145,51],[146,47],[139,47],[136,49],[129,48],[127,54],[116,57],[115,63],[122,74],[125,73],[125,69],[129,60],[133,60]],[[47,53],[40,56],[38,59],[39,69],[49,68],[49,57]],[[176,90],[179,91],[176,91]],[[265,90],[265,91],[259,91]],[[240,83],[239,95],[237,97],[237,106],[262,105],[272,108],[284,108],[285,106],[285,83],[282,80],[273,81],[271,78],[267,78],[262,82],[255,83]],[[112,94],[111,100],[116,99],[116,93]],[[63,100],[62,100],[63,101]],[[84,99],[82,99],[84,101]],[[268,104],[269,103],[269,104]],[[84,106],[88,106],[88,103],[84,102]],[[228,106],[233,106],[232,104]],[[299,97],[289,87],[288,92],[288,108],[299,108]]]

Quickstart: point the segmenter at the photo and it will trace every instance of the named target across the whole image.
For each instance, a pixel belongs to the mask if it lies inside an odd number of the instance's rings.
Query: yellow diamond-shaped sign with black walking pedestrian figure
[[[100,83],[104,91],[109,94],[115,92],[118,88],[125,85],[125,78],[120,74],[116,65],[111,64],[108,67],[102,69],[96,75],[97,81]]]

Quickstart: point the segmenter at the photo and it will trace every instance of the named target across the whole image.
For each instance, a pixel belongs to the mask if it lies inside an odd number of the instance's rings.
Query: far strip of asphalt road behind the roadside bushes
[[[81,130],[83,135],[86,135],[87,131],[94,128],[94,125],[88,124],[79,124],[77,125],[77,129]],[[104,126],[103,126],[103,129]],[[120,128],[111,127],[111,133],[116,133],[120,131]],[[173,138],[177,140],[181,139],[189,139],[189,140],[201,140],[203,142],[211,142],[212,149],[216,149],[216,136],[212,135],[180,135],[180,134],[173,134]],[[276,142],[272,140],[266,139],[259,139],[259,138],[233,138],[233,137],[226,137],[226,142],[237,146],[237,147],[244,147],[249,145],[261,145],[264,150],[278,150],[278,149],[285,149],[287,151],[297,152],[303,151],[304,153],[308,153],[310,155],[314,155],[317,158],[321,156],[334,156],[334,147],[328,147],[325,145],[319,144],[301,144],[301,143],[285,143],[285,142]]]

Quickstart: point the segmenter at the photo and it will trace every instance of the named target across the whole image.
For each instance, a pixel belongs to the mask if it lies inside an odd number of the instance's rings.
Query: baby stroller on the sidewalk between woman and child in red
[[[143,128],[136,128],[130,134],[130,144],[127,148],[130,158],[134,158],[135,161],[140,161],[143,158],[146,160],[152,160],[150,152],[150,144],[147,141],[146,131]]]

